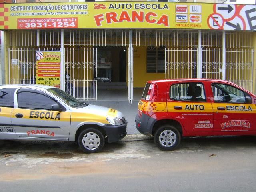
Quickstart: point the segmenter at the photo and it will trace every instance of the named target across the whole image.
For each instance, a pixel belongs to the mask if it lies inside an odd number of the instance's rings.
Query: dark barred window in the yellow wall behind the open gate
[[[147,48],[147,72],[165,72],[165,46],[148,46]]]

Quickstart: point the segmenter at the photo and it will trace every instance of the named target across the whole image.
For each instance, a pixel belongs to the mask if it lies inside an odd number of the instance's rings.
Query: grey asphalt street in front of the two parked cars
[[[128,136],[97,154],[72,142],[0,141],[0,166],[1,192],[254,192],[256,136],[184,138],[172,152]]]

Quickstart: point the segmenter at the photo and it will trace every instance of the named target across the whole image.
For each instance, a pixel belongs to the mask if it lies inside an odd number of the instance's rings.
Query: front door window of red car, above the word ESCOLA
[[[251,100],[249,94],[227,84],[213,83],[212,93],[215,102],[250,103]]]

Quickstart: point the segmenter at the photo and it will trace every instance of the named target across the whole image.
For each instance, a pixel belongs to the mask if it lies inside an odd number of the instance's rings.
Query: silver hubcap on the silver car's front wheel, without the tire
[[[88,150],[95,150],[100,146],[100,137],[93,132],[86,133],[83,137],[82,143]]]

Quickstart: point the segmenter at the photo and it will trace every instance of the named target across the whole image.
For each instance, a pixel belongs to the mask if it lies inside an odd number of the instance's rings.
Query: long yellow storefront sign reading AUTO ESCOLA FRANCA
[[[256,6],[175,2],[0,4],[0,29],[256,30]]]

